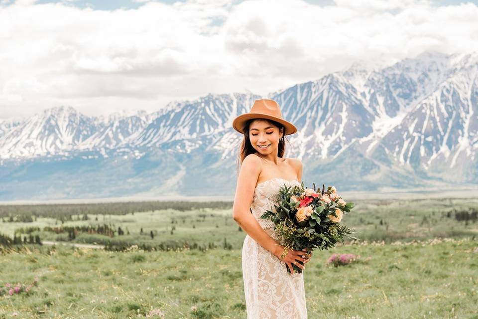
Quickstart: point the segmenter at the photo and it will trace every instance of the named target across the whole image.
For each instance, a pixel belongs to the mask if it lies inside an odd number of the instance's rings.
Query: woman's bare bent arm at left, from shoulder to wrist
[[[234,198],[233,218],[253,240],[279,257],[284,247],[279,245],[262,229],[250,213],[250,205],[254,197],[255,184],[261,171],[260,159],[248,155],[240,166],[236,196]]]

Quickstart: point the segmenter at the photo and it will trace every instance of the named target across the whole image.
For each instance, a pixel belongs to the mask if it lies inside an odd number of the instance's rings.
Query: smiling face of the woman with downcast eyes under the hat
[[[279,132],[278,127],[265,120],[254,120],[249,126],[250,144],[262,155],[272,152],[277,154],[279,139],[282,136],[283,134]]]

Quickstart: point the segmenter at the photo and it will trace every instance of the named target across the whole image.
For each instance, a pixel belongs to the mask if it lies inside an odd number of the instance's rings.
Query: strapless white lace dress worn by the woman
[[[250,206],[261,227],[279,243],[274,223],[259,216],[272,209],[284,183],[300,185],[297,180],[266,180],[255,188]],[[242,277],[247,319],[306,319],[303,275],[287,273],[284,262],[246,235],[242,246]]]

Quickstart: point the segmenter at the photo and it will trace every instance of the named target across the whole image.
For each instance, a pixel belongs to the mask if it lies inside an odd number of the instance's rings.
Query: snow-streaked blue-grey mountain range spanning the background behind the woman
[[[388,66],[354,63],[266,97],[299,130],[286,157],[303,161],[306,183],[474,184],[477,70],[476,53],[424,52]],[[0,199],[231,195],[241,141],[232,120],[258,98],[208,94],[107,118],[61,107],[0,122]]]

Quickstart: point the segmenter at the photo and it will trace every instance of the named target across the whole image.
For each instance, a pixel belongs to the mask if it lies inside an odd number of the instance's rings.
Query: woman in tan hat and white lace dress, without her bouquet
[[[292,264],[305,269],[311,253],[287,250],[274,224],[259,219],[273,209],[279,187],[301,184],[300,160],[283,158],[284,135],[296,133],[297,128],[269,99],[255,100],[249,113],[234,119],[233,127],[244,135],[233,212],[247,233],[241,256],[247,318],[306,319],[304,273],[294,273]]]

